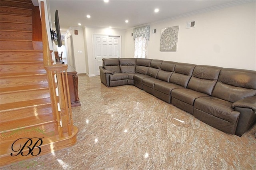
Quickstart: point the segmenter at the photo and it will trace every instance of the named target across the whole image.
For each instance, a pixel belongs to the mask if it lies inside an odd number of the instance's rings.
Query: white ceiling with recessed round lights
[[[170,18],[222,8],[247,0],[49,0],[52,25],[58,10],[62,34],[70,26],[134,28]],[[159,12],[154,12],[158,8]],[[91,18],[87,18],[90,15]],[[129,20],[128,23],[125,20]]]

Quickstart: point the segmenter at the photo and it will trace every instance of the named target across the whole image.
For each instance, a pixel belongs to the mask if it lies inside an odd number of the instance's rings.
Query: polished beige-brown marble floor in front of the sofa
[[[135,86],[78,77],[77,143],[4,170],[256,169],[256,126],[242,137],[226,134]]]

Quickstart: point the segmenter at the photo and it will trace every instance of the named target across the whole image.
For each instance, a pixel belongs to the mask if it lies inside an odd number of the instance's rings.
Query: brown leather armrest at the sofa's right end
[[[244,108],[250,108],[250,109],[256,111],[256,95],[238,100],[238,101],[234,102],[231,107],[233,109],[234,109],[234,107],[244,107]]]

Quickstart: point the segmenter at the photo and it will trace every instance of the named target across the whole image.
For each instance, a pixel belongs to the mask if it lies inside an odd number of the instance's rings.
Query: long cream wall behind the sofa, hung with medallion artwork
[[[186,22],[196,27],[186,29]],[[162,28],[179,26],[177,51],[160,51]],[[150,24],[148,58],[200,65],[256,70],[256,2],[240,4],[183,18]],[[126,57],[134,55],[127,31]]]

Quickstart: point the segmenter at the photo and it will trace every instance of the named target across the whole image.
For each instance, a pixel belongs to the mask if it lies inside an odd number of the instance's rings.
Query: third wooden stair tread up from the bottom
[[[42,99],[34,99],[34,100],[27,100],[27,101],[20,101],[20,102],[13,102],[13,103],[5,103],[0,104],[0,110],[15,110],[18,108],[26,108],[26,107],[34,107],[37,105],[45,105],[51,103],[50,97],[42,98]]]

